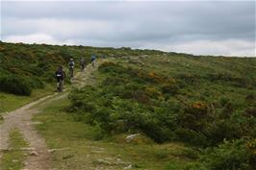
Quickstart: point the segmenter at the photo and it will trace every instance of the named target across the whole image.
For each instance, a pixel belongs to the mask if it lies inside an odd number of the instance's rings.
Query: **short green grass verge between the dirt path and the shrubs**
[[[64,112],[69,101],[64,98],[43,106],[41,113],[34,117],[39,134],[45,138],[50,149],[63,149],[53,153],[53,168],[84,169],[113,167],[122,169],[130,163],[133,169],[166,169],[169,160],[176,164],[187,164],[181,143],[154,144],[153,142],[126,143],[126,134],[98,140],[99,130],[83,122],[77,122],[72,115]],[[98,159],[114,162],[111,165],[99,163]],[[119,163],[124,161],[126,163]],[[116,163],[117,162],[117,163]],[[178,169],[177,169],[178,170]]]

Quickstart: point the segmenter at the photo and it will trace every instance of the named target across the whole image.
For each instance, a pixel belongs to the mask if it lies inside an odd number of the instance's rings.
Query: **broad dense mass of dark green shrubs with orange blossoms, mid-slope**
[[[255,132],[254,117],[242,115],[244,98],[234,101],[228,93],[215,98],[215,89],[206,91],[208,96],[192,91],[202,77],[185,74],[174,79],[115,62],[103,62],[99,71],[105,79],[97,87],[73,90],[69,110],[106,134],[140,132],[160,143],[175,139],[208,147]]]

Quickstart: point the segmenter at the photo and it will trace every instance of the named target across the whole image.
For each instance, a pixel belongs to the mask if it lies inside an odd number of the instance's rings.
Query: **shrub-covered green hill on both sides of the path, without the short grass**
[[[58,65],[81,57],[89,63],[92,53],[106,61],[90,85],[70,92],[63,109],[94,127],[94,139],[140,133],[145,141],[192,149],[183,156],[194,162],[186,167],[161,153],[166,169],[256,168],[255,58],[1,42],[0,90],[30,95],[54,85]]]

